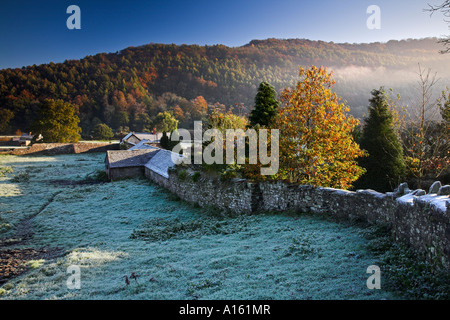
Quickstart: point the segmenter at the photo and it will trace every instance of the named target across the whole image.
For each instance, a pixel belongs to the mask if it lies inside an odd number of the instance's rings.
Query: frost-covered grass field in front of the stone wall
[[[357,228],[283,214],[221,218],[145,179],[76,183],[103,159],[0,156],[0,167],[29,176],[0,178],[0,238],[38,213],[28,242],[10,248],[64,252],[31,261],[0,299],[393,298],[367,289],[376,261]],[[69,265],[81,268],[79,290],[67,288]]]

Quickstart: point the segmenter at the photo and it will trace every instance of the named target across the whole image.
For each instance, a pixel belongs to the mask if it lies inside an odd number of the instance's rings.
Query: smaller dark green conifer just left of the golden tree
[[[279,105],[275,89],[267,82],[261,82],[255,97],[255,107],[250,113],[250,125],[267,127],[277,115]]]

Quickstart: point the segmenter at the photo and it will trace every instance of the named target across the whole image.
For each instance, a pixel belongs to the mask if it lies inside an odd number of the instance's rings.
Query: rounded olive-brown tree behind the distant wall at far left
[[[38,116],[31,130],[35,134],[42,134],[46,142],[78,142],[81,131],[79,122],[72,104],[46,99],[39,105]]]

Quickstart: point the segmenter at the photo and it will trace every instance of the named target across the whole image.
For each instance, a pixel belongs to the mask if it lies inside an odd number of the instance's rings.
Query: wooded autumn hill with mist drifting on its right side
[[[235,111],[246,113],[261,81],[281,92],[298,80],[300,65],[333,70],[336,91],[361,117],[370,91],[380,86],[393,88],[413,103],[418,63],[438,72],[436,93],[449,85],[450,55],[439,54],[440,49],[435,38],[370,44],[267,39],[235,48],[149,44],[64,63],[4,69],[0,112],[10,110],[14,118],[1,133],[28,130],[38,102],[45,98],[76,105],[85,136],[97,123],[115,130],[149,129],[161,111],[173,112],[180,125],[189,127],[205,111],[196,97],[227,108],[243,104]]]

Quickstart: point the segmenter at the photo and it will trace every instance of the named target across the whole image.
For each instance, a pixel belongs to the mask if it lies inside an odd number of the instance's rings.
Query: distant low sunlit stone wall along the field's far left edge
[[[118,143],[35,143],[26,149],[15,149],[8,152],[13,155],[55,155],[85,152],[106,152],[119,150]]]

